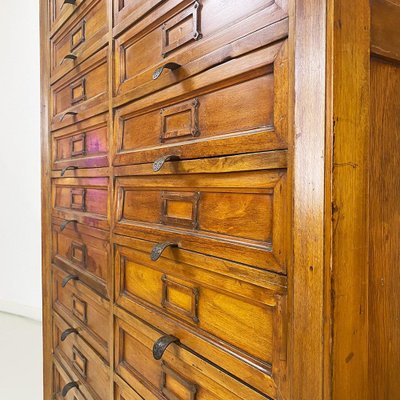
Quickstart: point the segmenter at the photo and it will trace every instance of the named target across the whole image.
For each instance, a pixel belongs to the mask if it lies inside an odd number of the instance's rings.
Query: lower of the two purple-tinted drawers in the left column
[[[109,229],[108,178],[55,178],[52,180],[53,216]]]

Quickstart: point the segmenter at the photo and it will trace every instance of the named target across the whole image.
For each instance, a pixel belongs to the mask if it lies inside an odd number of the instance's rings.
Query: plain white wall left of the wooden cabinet
[[[39,0],[1,1],[0,311],[41,314]]]

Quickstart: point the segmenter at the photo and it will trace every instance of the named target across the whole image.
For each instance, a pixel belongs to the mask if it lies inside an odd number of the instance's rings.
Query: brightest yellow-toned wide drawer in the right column
[[[276,393],[285,377],[285,277],[182,250],[152,261],[152,243],[123,237],[115,243],[118,305],[260,391]]]

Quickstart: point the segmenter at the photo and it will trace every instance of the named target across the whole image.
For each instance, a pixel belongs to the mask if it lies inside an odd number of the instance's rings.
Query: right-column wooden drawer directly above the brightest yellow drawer
[[[286,271],[286,152],[120,167],[115,233]],[[126,176],[129,175],[129,176]]]

